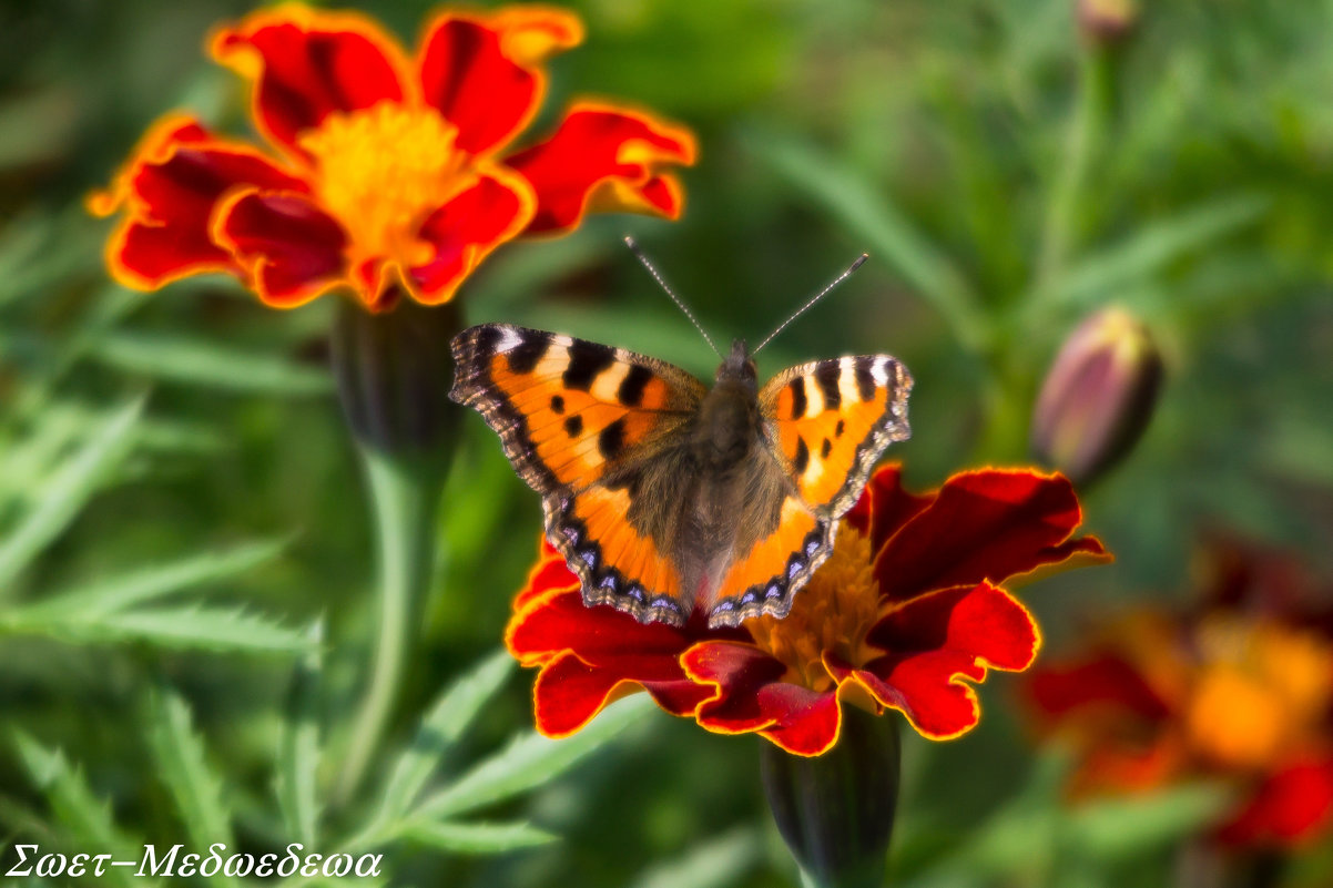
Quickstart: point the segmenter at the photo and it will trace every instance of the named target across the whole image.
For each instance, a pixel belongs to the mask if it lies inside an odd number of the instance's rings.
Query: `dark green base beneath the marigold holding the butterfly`
[[[898,719],[854,705],[842,708],[837,744],[824,755],[794,756],[762,744],[764,795],[777,831],[813,884],[884,884],[898,760]]]

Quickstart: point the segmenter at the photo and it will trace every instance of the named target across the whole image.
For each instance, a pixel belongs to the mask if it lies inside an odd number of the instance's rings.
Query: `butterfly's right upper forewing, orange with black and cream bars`
[[[816,515],[856,503],[884,449],[908,437],[912,377],[886,355],[802,364],[760,392],[769,443]]]

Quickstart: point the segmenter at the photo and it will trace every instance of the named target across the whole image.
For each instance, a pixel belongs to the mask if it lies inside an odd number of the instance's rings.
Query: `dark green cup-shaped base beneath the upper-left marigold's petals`
[[[449,340],[463,328],[457,301],[397,299],[385,312],[341,300],[332,360],[347,423],[385,453],[439,456],[447,464],[463,411],[449,401]]]

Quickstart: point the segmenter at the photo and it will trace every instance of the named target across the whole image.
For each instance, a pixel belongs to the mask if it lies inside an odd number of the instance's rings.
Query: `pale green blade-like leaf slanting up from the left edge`
[[[139,397],[115,411],[65,465],[41,488],[40,499],[0,543],[0,595],[28,563],[92,499],[109,469],[129,451],[135,423],[144,409]]]

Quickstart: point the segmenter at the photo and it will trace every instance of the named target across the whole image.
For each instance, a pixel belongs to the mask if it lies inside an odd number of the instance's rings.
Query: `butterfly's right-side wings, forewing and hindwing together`
[[[792,596],[833,549],[838,519],[856,504],[885,448],[905,440],[912,377],[886,355],[793,367],[758,393],[762,455],[784,479],[768,508],[776,527],[744,540],[716,585],[710,625],[785,616]],[[772,527],[772,524],[770,524]]]

